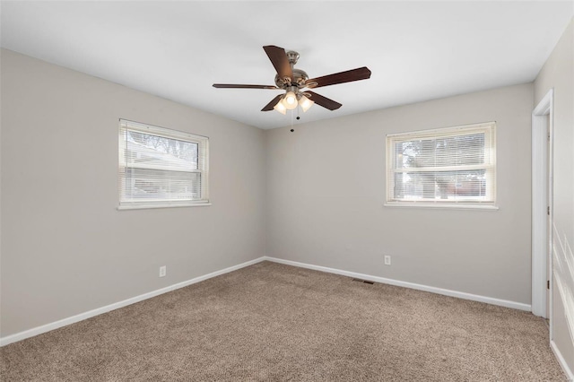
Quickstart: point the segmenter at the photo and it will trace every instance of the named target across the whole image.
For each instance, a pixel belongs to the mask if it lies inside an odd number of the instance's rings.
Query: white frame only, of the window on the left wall
[[[119,201],[117,205],[118,210],[134,210],[134,209],[148,209],[148,208],[169,208],[169,207],[193,207],[193,206],[206,206],[211,205],[209,199],[209,137],[203,135],[194,135],[170,128],[153,126],[135,122],[128,119],[119,119],[118,128],[118,196]],[[126,131],[133,131],[136,133],[143,133],[145,135],[161,136],[163,138],[175,139],[188,143],[197,144],[197,169],[188,172],[196,172],[201,174],[201,186],[199,199],[130,199],[126,197],[124,182],[126,181],[126,169],[146,169],[145,166],[139,165],[137,167],[127,166],[126,164]],[[147,169],[158,169],[158,166],[150,166]],[[177,169],[163,169],[165,171],[177,172]]]

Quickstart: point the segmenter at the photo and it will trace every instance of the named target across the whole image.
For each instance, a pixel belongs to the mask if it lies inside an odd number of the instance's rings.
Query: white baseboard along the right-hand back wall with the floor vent
[[[485,296],[480,296],[477,294],[465,293],[464,291],[450,291],[448,289],[436,288],[436,287],[431,287],[431,286],[422,285],[422,284],[415,284],[413,282],[401,282],[401,281],[397,281],[397,280],[393,280],[393,279],[387,279],[385,277],[372,276],[370,274],[342,271],[340,269],[327,268],[326,266],[310,265],[310,264],[299,263],[299,262],[291,261],[291,260],[283,260],[283,259],[275,258],[275,257],[264,256],[263,258],[264,258],[264,260],[272,261],[274,263],[299,266],[301,268],[308,268],[308,269],[313,269],[315,271],[321,271],[321,272],[327,272],[327,273],[341,274],[344,276],[349,276],[349,277],[353,277],[353,278],[357,278],[357,279],[361,279],[361,280],[368,280],[370,282],[381,282],[381,283],[396,285],[396,286],[400,286],[400,287],[404,287],[404,288],[415,289],[418,291],[430,291],[432,293],[442,294],[445,296],[457,297],[458,299],[486,302],[487,304],[491,304],[491,305],[499,305],[500,307],[526,310],[528,312],[532,311],[532,307],[529,304],[523,304],[521,302],[516,302],[516,301],[494,299],[492,297],[485,297]]]

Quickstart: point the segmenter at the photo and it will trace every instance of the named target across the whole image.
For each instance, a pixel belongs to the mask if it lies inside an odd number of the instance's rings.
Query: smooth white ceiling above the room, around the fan
[[[535,79],[574,14],[572,1],[11,2],[2,47],[229,117],[290,126],[262,109],[279,91],[263,50],[296,50],[309,77],[360,66],[370,80],[324,88],[343,103],[300,121],[480,91]]]

